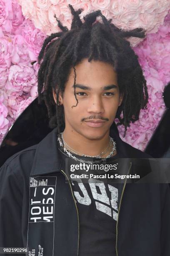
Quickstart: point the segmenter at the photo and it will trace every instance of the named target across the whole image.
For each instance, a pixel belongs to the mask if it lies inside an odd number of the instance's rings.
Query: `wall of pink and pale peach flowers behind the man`
[[[121,2],[121,3],[120,3]],[[18,116],[37,97],[37,56],[43,40],[59,31],[54,13],[70,29],[68,4],[86,13],[100,9],[120,28],[143,27],[147,37],[129,38],[147,80],[148,109],[123,141],[144,150],[164,111],[163,89],[170,82],[170,2],[168,0],[0,0],[0,143]],[[33,61],[36,61],[32,64]],[[118,120],[115,120],[116,123]]]

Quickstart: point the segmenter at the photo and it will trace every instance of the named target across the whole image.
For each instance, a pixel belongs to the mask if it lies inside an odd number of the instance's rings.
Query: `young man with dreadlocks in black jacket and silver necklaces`
[[[108,174],[126,176],[131,159],[150,158],[123,142],[114,122],[126,131],[147,104],[138,57],[124,39],[145,34],[116,28],[100,10],[82,23],[81,10],[69,7],[71,30],[57,20],[62,32],[39,54],[39,100],[54,129],[0,169],[0,246],[43,256],[168,256],[168,184],[102,176],[109,165]]]

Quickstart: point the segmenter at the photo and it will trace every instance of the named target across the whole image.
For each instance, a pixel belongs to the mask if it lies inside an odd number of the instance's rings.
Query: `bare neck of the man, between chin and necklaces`
[[[62,133],[64,141],[70,148],[89,156],[99,155],[109,144],[110,136],[109,131],[102,138],[87,138],[80,133],[71,129],[65,130]]]

